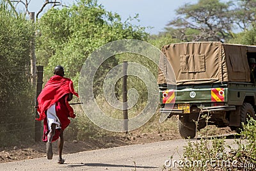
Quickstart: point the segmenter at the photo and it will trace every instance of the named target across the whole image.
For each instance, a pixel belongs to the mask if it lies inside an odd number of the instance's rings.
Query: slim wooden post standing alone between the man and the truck
[[[123,64],[123,115],[124,115],[124,131],[128,134],[128,104],[127,104],[127,61]]]

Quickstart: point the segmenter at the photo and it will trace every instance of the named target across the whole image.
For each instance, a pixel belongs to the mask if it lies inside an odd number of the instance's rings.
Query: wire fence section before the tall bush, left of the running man
[[[36,91],[28,73],[26,67],[0,67],[0,147],[35,142]]]

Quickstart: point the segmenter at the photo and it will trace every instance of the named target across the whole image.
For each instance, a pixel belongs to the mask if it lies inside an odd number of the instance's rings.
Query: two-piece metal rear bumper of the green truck
[[[201,112],[214,112],[214,111],[230,111],[236,110],[236,106],[216,106],[216,107],[203,107]],[[183,114],[183,110],[177,108],[160,108],[161,113],[170,113],[170,114]]]

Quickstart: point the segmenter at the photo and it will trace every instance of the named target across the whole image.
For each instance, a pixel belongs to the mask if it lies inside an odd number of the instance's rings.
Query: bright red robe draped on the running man
[[[51,105],[53,105],[54,103],[56,104],[56,115],[60,119],[62,130],[67,128],[68,124],[70,123],[68,117],[76,117],[73,108],[70,107],[70,105],[68,104],[68,96],[65,96],[68,93],[72,93],[78,97],[78,94],[74,91],[72,80],[70,80],[69,78],[61,77],[59,75],[54,75],[45,84],[44,89],[37,98],[37,111],[39,114],[39,118],[36,118],[36,120],[42,121],[44,119],[44,142],[47,142],[47,134],[49,132],[45,115],[45,111],[47,110],[47,108],[51,107]],[[57,140],[59,136],[60,130],[56,130],[52,141]]]

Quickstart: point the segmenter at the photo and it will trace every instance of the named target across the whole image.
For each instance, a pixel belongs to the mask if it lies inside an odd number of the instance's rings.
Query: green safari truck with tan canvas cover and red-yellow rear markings
[[[248,115],[255,119],[256,84],[248,60],[256,57],[256,46],[188,42],[165,45],[162,52],[160,112],[179,115],[182,137],[194,138],[196,129],[206,126],[203,115],[209,116],[208,124],[237,132]]]

